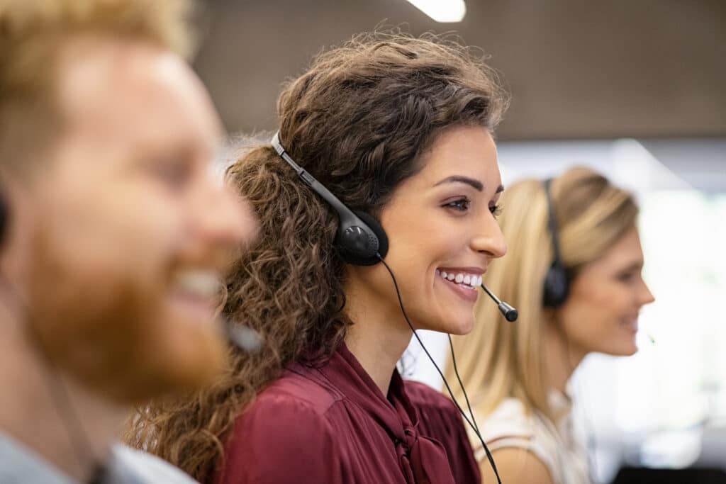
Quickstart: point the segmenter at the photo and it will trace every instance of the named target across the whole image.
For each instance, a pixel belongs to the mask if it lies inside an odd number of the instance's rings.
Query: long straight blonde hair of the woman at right
[[[561,258],[572,280],[635,226],[637,206],[628,192],[589,168],[571,168],[552,181],[550,190]],[[513,397],[527,411],[536,409],[555,421],[547,401],[542,350],[543,325],[552,318],[552,310],[542,305],[542,287],[554,257],[543,182],[513,184],[502,195],[502,207],[499,224],[509,249],[492,263],[484,282],[518,308],[519,319],[505,321],[496,305],[479,298],[475,329],[454,337],[457,366],[477,414],[488,415]],[[450,363],[446,377],[454,378]],[[463,398],[459,388],[454,396]]]

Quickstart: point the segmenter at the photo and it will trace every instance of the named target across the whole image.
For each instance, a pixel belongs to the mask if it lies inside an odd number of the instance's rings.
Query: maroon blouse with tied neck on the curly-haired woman
[[[216,484],[480,483],[453,403],[393,372],[388,399],[343,347],[293,364],[237,418]]]

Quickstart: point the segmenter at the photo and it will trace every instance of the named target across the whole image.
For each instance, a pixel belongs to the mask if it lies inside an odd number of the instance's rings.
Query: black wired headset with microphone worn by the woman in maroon
[[[282,160],[285,160],[285,162],[290,165],[296,173],[298,173],[300,179],[302,179],[302,181],[307,186],[309,186],[315,193],[319,194],[320,197],[328,202],[330,206],[333,207],[335,212],[338,213],[338,219],[340,220],[340,223],[338,224],[338,231],[335,234],[334,243],[335,246],[338,247],[339,253],[343,258],[343,261],[346,261],[346,263],[352,264],[354,266],[374,266],[375,264],[380,262],[383,263],[383,266],[386,267],[386,269],[388,270],[388,274],[391,275],[391,279],[393,280],[393,287],[395,287],[396,289],[396,295],[398,296],[401,313],[403,313],[404,319],[406,319],[406,322],[411,328],[413,335],[418,340],[421,348],[423,348],[426,356],[428,356],[428,359],[431,360],[431,363],[436,368],[436,371],[439,372],[441,380],[444,381],[444,386],[446,387],[446,390],[448,390],[449,395],[452,398],[452,402],[462,414],[465,422],[469,424],[469,427],[471,427],[471,429],[481,441],[481,445],[484,448],[486,457],[487,459],[489,459],[489,464],[492,464],[492,470],[494,470],[494,475],[497,476],[497,483],[502,484],[502,480],[499,478],[499,472],[497,471],[497,465],[494,464],[494,458],[492,457],[492,453],[486,446],[484,438],[481,437],[478,425],[476,424],[476,419],[474,419],[474,414],[471,410],[469,397],[466,394],[464,385],[462,384],[461,378],[459,377],[456,360],[454,358],[454,348],[452,345],[451,337],[449,336],[449,348],[451,348],[452,350],[454,373],[456,374],[459,385],[461,385],[462,392],[464,393],[464,398],[466,399],[466,404],[471,419],[467,417],[465,411],[456,401],[456,398],[454,398],[454,393],[452,392],[451,387],[449,387],[449,382],[446,381],[444,373],[441,372],[441,369],[439,369],[439,365],[437,365],[436,361],[433,360],[431,353],[428,352],[417,332],[415,331],[413,324],[409,320],[406,309],[404,308],[403,300],[401,300],[401,292],[399,291],[399,284],[398,282],[396,282],[396,276],[393,275],[393,271],[391,271],[391,268],[388,266],[386,261],[384,261],[384,258],[388,253],[388,236],[386,235],[386,231],[383,230],[383,226],[381,226],[380,222],[369,214],[361,211],[354,211],[348,208],[343,202],[338,199],[338,197],[335,197],[335,195],[332,194],[330,190],[328,190],[323,184],[317,181],[314,176],[312,176],[304,168],[298,165],[298,163],[295,163],[295,160],[293,160],[293,158],[287,154],[287,150],[280,141],[280,131],[277,131],[277,133],[272,136],[272,141],[270,141],[270,143],[272,144],[275,152],[277,152],[277,155],[279,155]],[[486,291],[486,294],[489,295],[489,297],[492,298],[495,303],[497,303],[499,311],[502,313],[503,316],[505,316],[507,321],[516,321],[518,312],[515,308],[499,300],[494,294],[492,294],[492,292],[489,291],[489,289],[486,288],[484,284],[481,284],[481,287],[482,289],[484,289],[484,291]]]

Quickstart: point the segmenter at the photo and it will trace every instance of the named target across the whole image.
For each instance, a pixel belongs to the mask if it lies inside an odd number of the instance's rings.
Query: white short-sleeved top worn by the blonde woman
[[[550,407],[555,415],[561,416],[556,424],[536,410],[527,415],[517,398],[505,399],[487,418],[476,414],[475,417],[489,451],[522,448],[537,456],[549,469],[552,483],[590,483],[587,451],[575,438],[572,427],[571,401],[552,390]],[[486,461],[481,442],[471,429],[467,430],[477,461]]]

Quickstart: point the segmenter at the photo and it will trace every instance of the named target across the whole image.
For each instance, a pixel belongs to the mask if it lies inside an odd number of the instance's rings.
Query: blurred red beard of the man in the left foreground
[[[36,236],[27,279],[29,333],[74,380],[118,403],[141,403],[196,390],[225,366],[216,328],[167,313],[173,264],[134,259],[143,247],[83,250]]]

